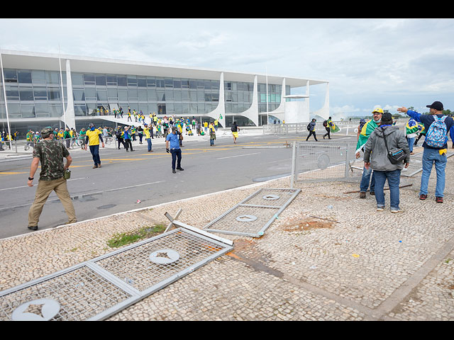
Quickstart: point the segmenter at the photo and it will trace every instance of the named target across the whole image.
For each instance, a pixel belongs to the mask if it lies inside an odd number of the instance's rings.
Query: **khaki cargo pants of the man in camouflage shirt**
[[[65,208],[66,215],[68,215],[68,222],[74,223],[76,220],[76,212],[68,188],[66,179],[55,179],[53,181],[39,181],[38,188],[36,189],[35,201],[28,210],[28,227],[38,226],[41,212],[43,211],[44,204],[52,191],[55,191],[58,198]]]

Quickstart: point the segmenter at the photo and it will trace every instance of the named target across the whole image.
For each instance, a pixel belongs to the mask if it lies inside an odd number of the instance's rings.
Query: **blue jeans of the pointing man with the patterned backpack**
[[[421,175],[421,189],[419,189],[419,195],[427,195],[428,179],[431,176],[432,166],[435,163],[435,170],[437,173],[435,196],[443,197],[443,191],[445,191],[446,162],[446,154],[441,155],[437,149],[424,148],[423,174]]]

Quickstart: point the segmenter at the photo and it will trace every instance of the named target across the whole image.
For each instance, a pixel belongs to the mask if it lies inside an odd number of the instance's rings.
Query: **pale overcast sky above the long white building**
[[[452,19],[0,19],[0,48],[329,81],[333,116],[441,101],[454,111]],[[311,111],[325,85],[311,86]],[[305,89],[292,94],[304,94]]]

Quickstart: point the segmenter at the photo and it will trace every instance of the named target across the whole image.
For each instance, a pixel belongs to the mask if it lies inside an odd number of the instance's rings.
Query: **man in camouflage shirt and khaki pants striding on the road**
[[[31,230],[38,229],[38,220],[43,211],[43,206],[52,191],[55,191],[60,198],[68,215],[68,223],[77,222],[76,212],[64,177],[65,171],[72,163],[70,152],[65,145],[53,140],[54,135],[51,128],[43,128],[41,137],[43,140],[38,142],[33,149],[33,161],[31,162],[30,177],[28,177],[28,186],[33,186],[33,176],[35,176],[38,164],[41,162],[40,179],[35,200],[28,211],[28,229]],[[63,164],[63,158],[66,158],[66,164]]]

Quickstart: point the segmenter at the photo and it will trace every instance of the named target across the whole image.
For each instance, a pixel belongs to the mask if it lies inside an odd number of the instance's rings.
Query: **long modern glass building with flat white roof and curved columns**
[[[11,130],[105,125],[106,111],[175,115],[228,127],[309,120],[309,86],[328,81],[72,55],[1,50],[0,121]],[[292,89],[305,87],[303,101]]]

